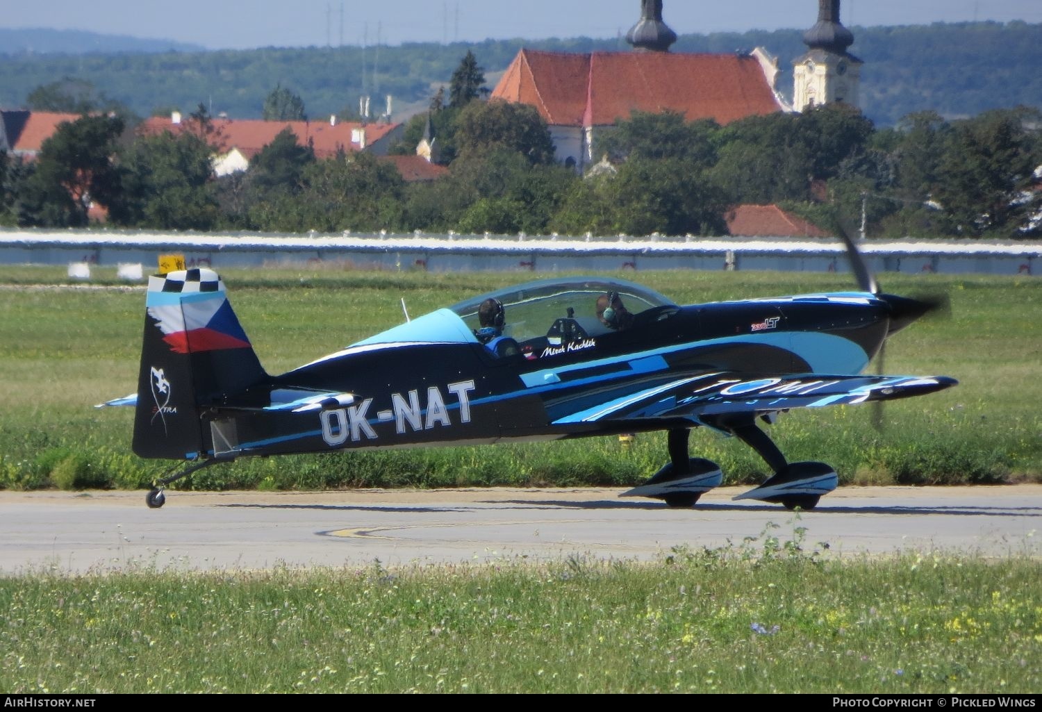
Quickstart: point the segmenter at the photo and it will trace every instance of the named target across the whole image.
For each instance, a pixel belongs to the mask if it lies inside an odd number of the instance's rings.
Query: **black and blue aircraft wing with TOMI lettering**
[[[947,376],[785,375],[708,373],[678,378],[559,418],[555,424],[681,418],[701,424],[729,413],[776,413],[793,408],[853,406],[940,391]]]

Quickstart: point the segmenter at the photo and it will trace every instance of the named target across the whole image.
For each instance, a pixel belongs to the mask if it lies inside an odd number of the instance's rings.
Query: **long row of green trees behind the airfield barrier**
[[[90,115],[61,126],[32,163],[0,158],[0,222],[81,226],[93,200],[111,224],[156,229],[719,235],[731,206],[773,202],[847,229],[864,210],[872,235],[1039,232],[1036,111],[916,114],[885,130],[842,105],[726,126],[635,114],[595,146],[615,169],[584,178],[554,162],[534,108],[482,101],[483,82],[468,53],[448,99],[431,101],[450,168],[437,181],[406,183],[368,153],[316,159],[289,131],[249,171],[217,179],[220,137],[202,106],[178,136],[139,138],[119,115]],[[269,99],[266,112],[303,113],[281,87]],[[427,121],[410,123],[399,151],[414,150]]]

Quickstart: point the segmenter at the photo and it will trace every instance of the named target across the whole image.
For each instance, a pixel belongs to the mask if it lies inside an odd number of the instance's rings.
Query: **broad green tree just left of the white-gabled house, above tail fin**
[[[137,141],[123,154],[127,212],[122,222],[153,229],[208,230],[219,221],[213,149],[192,131]]]

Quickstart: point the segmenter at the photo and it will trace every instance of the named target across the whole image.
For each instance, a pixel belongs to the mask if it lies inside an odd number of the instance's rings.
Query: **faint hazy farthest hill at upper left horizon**
[[[65,29],[0,29],[0,54],[204,52],[202,45]]]

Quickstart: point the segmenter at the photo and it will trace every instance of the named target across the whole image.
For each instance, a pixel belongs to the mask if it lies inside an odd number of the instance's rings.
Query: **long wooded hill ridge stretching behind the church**
[[[947,118],[975,116],[990,108],[1042,107],[1042,24],[1023,22],[852,27],[850,51],[865,62],[862,108],[878,126],[890,126],[913,112],[933,109]],[[0,47],[13,45],[0,30]],[[27,31],[27,30],[19,30]],[[559,51],[626,51],[619,39],[486,41],[476,44],[413,43],[394,47],[264,48],[195,51],[139,41],[139,49],[117,49],[111,38],[83,35],[89,49],[44,53],[34,49],[0,62],[0,106],[24,104],[36,87],[63,77],[92,82],[105,96],[141,116],[199,103],[232,118],[258,118],[276,83],[304,100],[308,116],[357,107],[362,94],[382,111],[393,95],[396,111],[422,108],[448,84],[460,59],[472,50],[487,78],[498,77],[521,47]],[[93,38],[93,39],[91,39]],[[792,60],[805,50],[801,30],[686,34],[674,51],[734,52],[763,46],[779,59],[778,89],[792,93]],[[104,51],[97,46],[106,44]],[[93,46],[91,43],[95,43]],[[176,43],[168,43],[168,45]],[[78,45],[82,47],[82,45]],[[151,50],[141,47],[151,47]],[[159,51],[162,50],[162,51]],[[151,52],[151,53],[144,53]],[[401,113],[397,118],[402,118]]]

